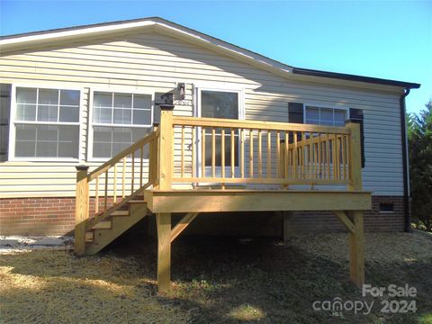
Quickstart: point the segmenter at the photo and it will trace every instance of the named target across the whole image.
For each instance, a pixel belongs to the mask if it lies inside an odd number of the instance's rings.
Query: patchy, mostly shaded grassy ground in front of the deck
[[[179,238],[173,290],[157,294],[156,244],[117,244],[94,257],[69,251],[1,256],[2,323],[432,323],[432,239],[366,235],[366,282],[417,288],[415,313],[383,314],[348,280],[347,234],[272,239]],[[368,314],[314,311],[315,301],[374,302]],[[397,300],[391,298],[391,300]]]

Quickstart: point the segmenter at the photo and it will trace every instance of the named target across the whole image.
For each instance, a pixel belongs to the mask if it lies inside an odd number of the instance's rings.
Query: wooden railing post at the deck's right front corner
[[[347,121],[347,129],[350,130],[349,143],[349,184],[348,190],[362,190],[362,148],[360,139],[360,124]]]

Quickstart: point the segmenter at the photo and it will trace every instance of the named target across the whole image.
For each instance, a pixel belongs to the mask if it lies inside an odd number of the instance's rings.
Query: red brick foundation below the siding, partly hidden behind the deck
[[[393,203],[394,211],[380,212],[380,203]],[[201,216],[201,217],[200,217]],[[282,219],[275,213],[203,214],[187,231],[207,234],[280,236]],[[246,218],[246,223],[245,223]],[[75,198],[0,199],[0,235],[64,235],[74,229]],[[329,212],[296,212],[295,232],[345,230]],[[365,212],[366,231],[402,231],[403,197],[374,196],[372,211]]]

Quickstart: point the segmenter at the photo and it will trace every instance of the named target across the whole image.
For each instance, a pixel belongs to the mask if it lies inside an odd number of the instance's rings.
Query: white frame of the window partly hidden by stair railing
[[[134,124],[112,124],[112,123],[94,123],[93,122],[93,114],[94,114],[94,93],[108,93],[108,94],[145,94],[151,96],[151,121],[149,125],[134,125]],[[124,127],[124,128],[148,128],[151,130],[153,127],[153,121],[155,119],[155,92],[149,91],[137,91],[127,89],[117,89],[117,88],[92,88],[90,89],[89,100],[88,100],[88,122],[87,122],[87,161],[89,162],[105,162],[108,161],[112,157],[93,157],[93,139],[94,139],[94,127]],[[137,157],[138,158],[138,157]]]

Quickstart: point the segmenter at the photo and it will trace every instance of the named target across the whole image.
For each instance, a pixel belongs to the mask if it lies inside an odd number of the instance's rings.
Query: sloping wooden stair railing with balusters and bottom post
[[[85,252],[85,231],[157,185],[157,127],[87,174],[88,166],[76,166],[76,253]]]

